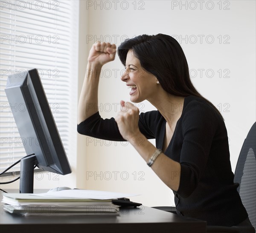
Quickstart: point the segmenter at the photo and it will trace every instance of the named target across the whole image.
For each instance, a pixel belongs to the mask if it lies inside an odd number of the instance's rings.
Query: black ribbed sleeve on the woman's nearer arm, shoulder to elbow
[[[218,127],[215,110],[204,102],[191,101],[180,119],[183,145],[180,154],[180,186],[177,193],[186,198],[201,179],[209,158],[212,139]]]

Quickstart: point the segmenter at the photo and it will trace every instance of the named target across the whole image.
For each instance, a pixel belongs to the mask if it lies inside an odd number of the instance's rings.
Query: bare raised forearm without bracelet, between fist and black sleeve
[[[78,103],[78,124],[98,112],[98,86],[101,64],[87,63]]]

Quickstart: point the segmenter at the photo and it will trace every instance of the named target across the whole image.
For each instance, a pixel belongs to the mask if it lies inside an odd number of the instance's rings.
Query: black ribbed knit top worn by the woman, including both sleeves
[[[166,120],[160,112],[141,113],[138,125],[162,149]],[[114,118],[102,119],[99,112],[81,122],[77,130],[95,138],[125,141]],[[247,218],[237,192],[239,184],[233,183],[227,129],[210,104],[195,96],[185,97],[164,154],[181,166],[179,189],[174,192],[178,214],[219,226],[233,226]]]

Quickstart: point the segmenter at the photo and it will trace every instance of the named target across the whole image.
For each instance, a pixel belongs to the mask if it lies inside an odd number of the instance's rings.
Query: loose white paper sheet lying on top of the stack
[[[55,197],[55,198],[78,198],[78,199],[96,199],[96,200],[109,200],[113,198],[123,198],[138,196],[138,194],[131,193],[114,193],[107,191],[97,191],[97,190],[84,190],[84,189],[70,189],[61,190],[49,193],[31,193],[32,196],[45,196],[45,197]]]

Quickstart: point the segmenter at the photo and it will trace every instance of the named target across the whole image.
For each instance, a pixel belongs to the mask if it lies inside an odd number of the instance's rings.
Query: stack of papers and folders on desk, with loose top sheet
[[[135,196],[94,190],[61,190],[49,193],[3,193],[3,210],[33,215],[118,215],[113,198]]]

